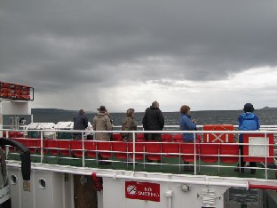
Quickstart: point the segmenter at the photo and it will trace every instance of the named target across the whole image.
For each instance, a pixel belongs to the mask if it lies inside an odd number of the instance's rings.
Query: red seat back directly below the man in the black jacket
[[[146,146],[146,158],[150,161],[162,161],[161,144],[155,140],[148,140]]]

